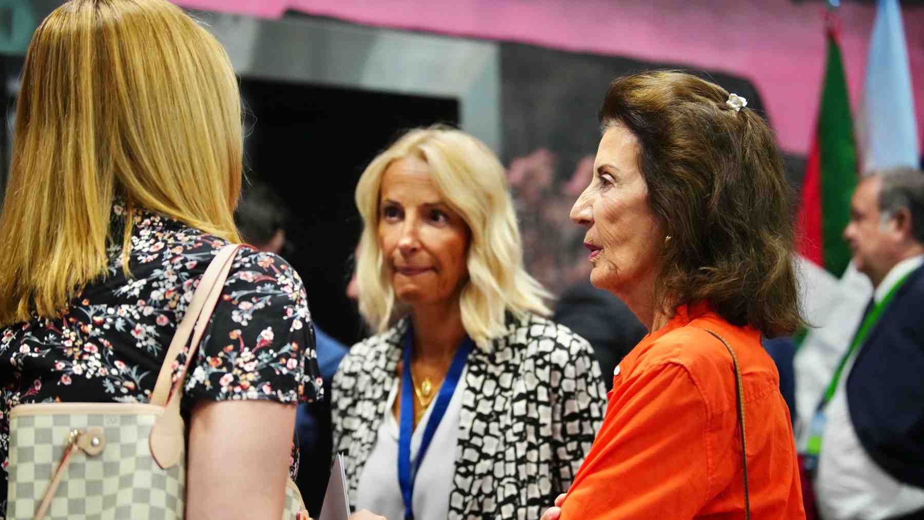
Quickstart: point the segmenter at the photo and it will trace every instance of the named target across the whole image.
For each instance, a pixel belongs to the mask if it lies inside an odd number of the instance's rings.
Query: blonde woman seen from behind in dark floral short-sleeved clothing
[[[6,503],[17,469],[7,458],[11,408],[151,400],[202,273],[239,242],[241,159],[234,70],[178,7],[72,0],[35,31],[0,216],[0,517],[35,514],[31,501]],[[296,403],[320,390],[307,296],[274,254],[240,248],[232,262],[177,383],[185,517],[279,520],[298,461]],[[140,477],[123,475],[120,486],[125,478]],[[82,498],[77,487],[67,493]],[[128,518],[153,500],[123,494],[67,517]]]

